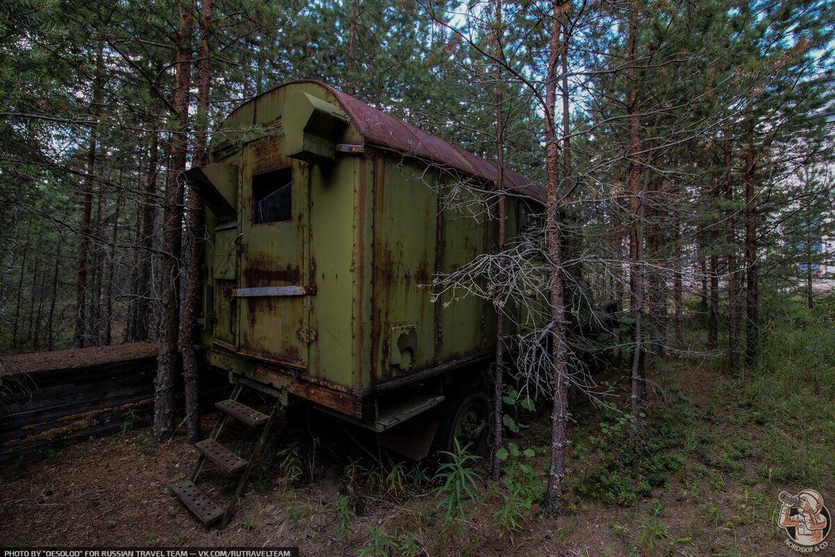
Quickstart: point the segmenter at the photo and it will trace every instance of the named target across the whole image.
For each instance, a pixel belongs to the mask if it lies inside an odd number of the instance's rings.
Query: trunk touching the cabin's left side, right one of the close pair
[[[197,126],[195,147],[192,157],[195,167],[206,162],[208,150],[209,108],[209,36],[211,21],[211,0],[203,0],[200,11],[200,52],[197,61]],[[198,397],[200,368],[194,347],[195,319],[200,289],[200,243],[203,233],[203,208],[195,191],[189,193],[188,224],[190,234],[188,258],[188,282],[185,284],[183,302],[183,324],[180,328],[180,344],[183,346],[183,379],[185,380],[185,436],[190,443],[200,440],[200,399]]]

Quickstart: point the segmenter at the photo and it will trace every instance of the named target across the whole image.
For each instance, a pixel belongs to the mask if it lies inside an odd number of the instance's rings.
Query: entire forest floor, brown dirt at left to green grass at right
[[[600,378],[612,408],[579,404],[556,519],[541,518],[537,502],[548,424],[511,439],[534,453],[508,461],[515,498],[481,463],[476,500],[463,519],[446,519],[427,470],[321,416],[281,421],[225,529],[205,528],[167,489],[188,476],[195,449],[181,432],[154,444],[142,427],[3,469],[0,539],[20,547],[298,546],[303,555],[793,555],[777,525],[777,494],[817,489],[835,510],[833,309],[791,314],[787,329],[772,324],[773,352],[756,376],[705,361],[658,366],[638,442],[626,434],[628,417],[612,409],[626,400],[619,378]],[[214,419],[207,414],[204,428]],[[230,484],[209,468],[204,475],[216,499],[228,497]]]

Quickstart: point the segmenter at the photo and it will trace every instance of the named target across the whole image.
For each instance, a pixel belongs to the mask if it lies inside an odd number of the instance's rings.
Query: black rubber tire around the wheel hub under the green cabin
[[[473,442],[472,439],[458,439],[458,442],[462,449],[464,445],[472,443],[467,449],[468,453],[486,456],[490,446],[489,421],[492,414],[490,399],[481,386],[471,384],[468,387],[459,387],[456,390],[457,392],[443,403],[438,431],[435,433],[435,439],[433,440],[433,451],[453,452],[455,449],[453,433],[458,422],[465,419],[466,414],[475,412],[476,414],[470,414],[470,416],[478,416],[479,421],[483,419],[483,428],[479,433],[478,440]],[[441,456],[445,455],[442,454]]]

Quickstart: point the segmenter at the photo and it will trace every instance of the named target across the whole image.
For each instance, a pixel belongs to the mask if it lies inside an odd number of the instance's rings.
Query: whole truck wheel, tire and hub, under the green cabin
[[[453,439],[458,439],[462,448],[469,445],[468,453],[484,456],[488,449],[489,419],[490,400],[482,389],[459,390],[443,404],[434,448],[453,452]]]

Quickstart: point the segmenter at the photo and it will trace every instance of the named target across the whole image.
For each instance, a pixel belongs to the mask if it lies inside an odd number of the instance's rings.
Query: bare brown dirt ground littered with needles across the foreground
[[[678,384],[699,411],[706,411],[713,389],[710,375],[682,371]],[[214,419],[214,414],[205,416],[204,428],[208,430]],[[534,429],[538,427],[544,424]],[[510,539],[494,525],[502,499],[497,486],[486,480],[485,464],[477,468],[481,503],[460,528],[451,529],[439,517],[429,487],[399,495],[383,489],[361,493],[354,481],[357,473],[348,474],[348,467],[361,458],[387,459],[361,431],[326,418],[316,419],[306,431],[286,420],[277,429],[271,451],[278,456],[265,473],[254,474],[225,529],[200,524],[168,490],[188,476],[195,449],[182,434],[169,444],[154,444],[145,427],[0,470],[0,545],[299,546],[304,555],[357,555],[370,554],[362,553],[363,548],[372,546],[375,534],[386,532],[390,539],[411,539],[412,549],[402,549],[403,554],[795,554],[782,544],[786,536],[776,527],[777,493],[767,493],[764,500],[749,499],[749,493],[762,488],[753,481],[741,486],[706,476],[673,478],[669,485],[655,489],[651,498],[629,508],[609,508],[569,494],[566,501],[572,504],[557,519],[539,517],[534,504],[524,529]],[[243,435],[234,429],[229,434]],[[534,434],[547,437],[547,432]],[[284,446],[296,447],[298,458],[293,461],[298,469],[288,466],[288,455],[279,452]],[[544,469],[545,463],[543,457],[535,465]],[[571,460],[569,466],[569,475],[584,474],[579,462]],[[372,474],[370,468],[365,470]],[[205,475],[210,494],[226,500],[230,484],[220,483],[209,467]],[[293,476],[295,484],[287,480]],[[379,480],[384,483],[382,476]],[[698,497],[682,495],[694,489]],[[335,503],[341,494],[356,511],[349,519],[340,516]],[[713,520],[713,509],[726,518],[736,517]],[[668,529],[658,536],[663,543],[645,537],[648,517],[655,514]],[[398,554],[394,547],[387,551]]]

